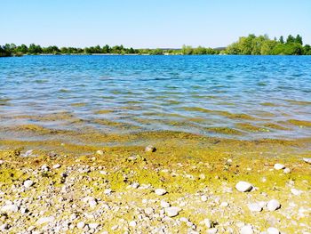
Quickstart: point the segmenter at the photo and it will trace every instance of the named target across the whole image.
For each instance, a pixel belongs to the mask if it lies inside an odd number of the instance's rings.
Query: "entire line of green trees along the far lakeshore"
[[[267,35],[255,36],[242,36],[233,44],[227,46],[223,50],[205,48],[198,46],[193,48],[189,45],[183,45],[181,49],[133,49],[125,48],[123,45],[104,46],[96,45],[85,48],[76,47],[58,47],[56,45],[42,47],[38,44],[4,44],[0,45],[0,57],[5,56],[22,56],[24,54],[150,54],[150,55],[163,55],[163,54],[253,54],[253,55],[311,55],[311,47],[309,44],[303,46],[302,37],[288,36],[286,41],[283,36],[279,39],[270,39]]]

